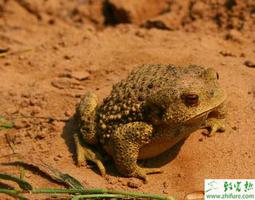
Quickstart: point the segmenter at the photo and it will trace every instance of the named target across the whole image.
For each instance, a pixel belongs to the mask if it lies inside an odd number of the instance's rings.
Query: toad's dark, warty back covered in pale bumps
[[[193,74],[201,73],[202,68],[194,66]],[[185,71],[187,70],[187,72]],[[101,143],[107,142],[114,130],[121,124],[134,121],[146,122],[146,100],[164,88],[176,89],[176,80],[189,68],[173,65],[143,65],[133,70],[125,79],[113,86],[111,94],[104,99],[97,110],[97,130]]]

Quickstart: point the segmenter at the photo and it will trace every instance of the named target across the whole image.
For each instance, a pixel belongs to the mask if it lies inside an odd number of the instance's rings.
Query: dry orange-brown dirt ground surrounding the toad
[[[255,177],[255,3],[253,0],[0,0],[0,162],[20,154],[102,187],[173,195],[203,190],[205,178]],[[143,162],[164,173],[147,184],[77,167],[73,114],[86,91],[102,100],[144,63],[213,67],[228,98],[227,128],[194,132],[181,146]],[[14,154],[15,153],[15,154]],[[19,175],[19,169],[0,166]],[[59,188],[27,171],[35,187]],[[134,188],[132,188],[134,187]],[[1,199],[7,198],[0,196]],[[36,197],[30,197],[36,199]]]

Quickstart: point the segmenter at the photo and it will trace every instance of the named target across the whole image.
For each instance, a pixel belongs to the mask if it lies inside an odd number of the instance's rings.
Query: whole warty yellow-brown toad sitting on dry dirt
[[[212,68],[150,64],[113,85],[102,103],[87,92],[76,112],[82,136],[74,134],[78,164],[93,161],[105,175],[90,148],[100,145],[122,175],[146,181],[160,170],[138,166],[138,159],[163,153],[199,128],[208,128],[209,135],[224,131],[226,95],[218,79]]]

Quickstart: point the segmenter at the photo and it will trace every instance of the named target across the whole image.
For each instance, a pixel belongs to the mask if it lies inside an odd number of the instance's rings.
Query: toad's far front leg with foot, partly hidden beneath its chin
[[[226,117],[226,105],[223,103],[211,113],[205,121],[204,128],[209,129],[208,136],[213,136],[216,132],[225,131],[225,117]]]

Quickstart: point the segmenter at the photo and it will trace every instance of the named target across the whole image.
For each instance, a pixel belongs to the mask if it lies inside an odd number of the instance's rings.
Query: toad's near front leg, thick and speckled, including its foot
[[[146,175],[160,173],[158,168],[141,168],[137,165],[139,149],[152,137],[152,126],[143,122],[132,122],[120,126],[114,136],[114,161],[118,171],[131,177],[147,181]]]

